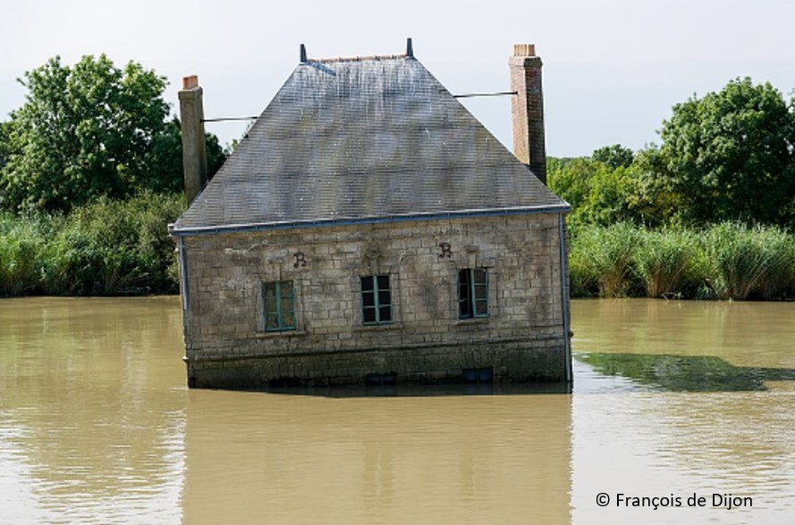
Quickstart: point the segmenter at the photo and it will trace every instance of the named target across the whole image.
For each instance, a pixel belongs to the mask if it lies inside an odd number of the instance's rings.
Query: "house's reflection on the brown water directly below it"
[[[571,411],[565,394],[194,391],[182,522],[571,523]]]

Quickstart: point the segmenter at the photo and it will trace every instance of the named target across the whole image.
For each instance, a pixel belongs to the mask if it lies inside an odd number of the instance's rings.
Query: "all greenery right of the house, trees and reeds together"
[[[661,137],[549,160],[572,296],[795,298],[795,101],[737,79],[674,105]]]

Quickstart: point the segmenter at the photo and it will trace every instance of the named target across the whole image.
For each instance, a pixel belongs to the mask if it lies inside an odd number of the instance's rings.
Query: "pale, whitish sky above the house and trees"
[[[452,93],[508,88],[514,43],[544,61],[547,153],[658,142],[672,104],[739,76],[795,87],[791,0],[0,0],[0,120],[21,106],[16,79],[60,54],[107,54],[165,76],[176,106],[198,74],[207,118],[256,115],[309,57],[414,54]],[[511,145],[510,100],[464,101]],[[208,125],[227,143],[241,123]]]

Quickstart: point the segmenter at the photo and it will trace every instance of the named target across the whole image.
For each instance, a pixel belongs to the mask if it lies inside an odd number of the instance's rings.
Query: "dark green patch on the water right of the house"
[[[765,390],[765,381],[795,380],[795,370],[734,366],[709,355],[588,353],[575,358],[602,374],[677,392]]]

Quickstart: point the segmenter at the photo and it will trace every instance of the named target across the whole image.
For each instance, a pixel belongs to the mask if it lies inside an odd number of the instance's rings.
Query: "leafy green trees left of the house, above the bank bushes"
[[[155,71],[133,62],[119,69],[104,54],[74,66],[56,56],[20,82],[26,102],[0,146],[5,208],[69,212],[103,196],[182,188],[180,129],[167,120],[165,79]],[[209,138],[212,170],[224,153]]]

